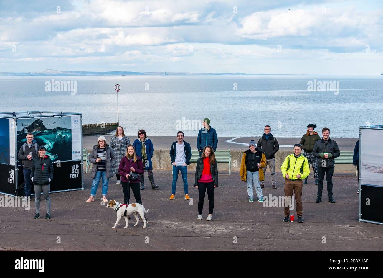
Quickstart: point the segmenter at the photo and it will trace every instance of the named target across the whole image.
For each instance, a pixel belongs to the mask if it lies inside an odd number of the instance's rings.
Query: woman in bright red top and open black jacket
[[[217,161],[211,146],[205,146],[201,158],[197,160],[194,186],[198,188],[199,195],[197,220],[202,220],[203,218],[202,209],[206,191],[208,191],[209,198],[209,215],[206,220],[211,220],[214,208],[214,188],[218,187]]]

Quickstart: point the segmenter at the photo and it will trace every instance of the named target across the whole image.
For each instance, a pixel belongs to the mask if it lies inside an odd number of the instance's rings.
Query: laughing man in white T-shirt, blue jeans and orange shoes
[[[188,142],[183,141],[183,132],[177,132],[177,141],[170,147],[170,159],[173,165],[172,195],[170,200],[175,199],[175,188],[177,187],[178,173],[181,171],[183,181],[183,191],[185,200],[190,200],[188,195],[188,165],[191,159],[191,147]]]

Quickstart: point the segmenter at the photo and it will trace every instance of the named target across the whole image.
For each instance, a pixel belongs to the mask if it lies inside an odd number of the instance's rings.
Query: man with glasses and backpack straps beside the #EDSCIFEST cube
[[[17,155],[18,160],[22,160],[23,174],[25,181],[25,199],[31,197],[31,168],[33,159],[38,156],[38,148],[36,141],[33,139],[33,133],[26,135],[26,143],[24,143]],[[32,154],[31,154],[32,153]]]

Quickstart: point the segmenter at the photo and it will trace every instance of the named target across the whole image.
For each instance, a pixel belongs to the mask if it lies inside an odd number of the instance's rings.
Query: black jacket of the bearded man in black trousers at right
[[[324,153],[329,153],[329,157],[323,158]],[[331,140],[329,137],[326,142],[322,138],[321,140],[316,141],[313,155],[318,158],[318,167],[334,167],[334,158],[340,156],[340,150],[336,141]]]

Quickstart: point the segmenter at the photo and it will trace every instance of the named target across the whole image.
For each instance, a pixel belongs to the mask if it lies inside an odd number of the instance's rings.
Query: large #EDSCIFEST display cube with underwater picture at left
[[[54,166],[51,193],[82,190],[82,113],[24,111],[0,113],[0,194],[15,196],[24,181],[18,152],[32,132]],[[33,194],[33,186],[31,193]]]

